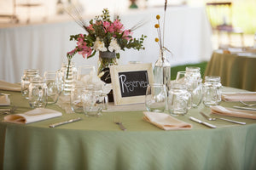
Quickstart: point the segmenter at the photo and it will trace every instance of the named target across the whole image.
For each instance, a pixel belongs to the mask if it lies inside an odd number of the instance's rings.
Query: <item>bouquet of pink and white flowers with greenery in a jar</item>
[[[132,37],[132,31],[138,26],[125,30],[119,16],[113,21],[110,19],[108,8],[102,10],[102,15],[98,15],[94,20],[90,20],[90,25],[82,26],[86,34],[70,36],[70,41],[77,41],[77,46],[67,53],[67,59],[72,59],[74,54],[82,54],[84,59],[93,57],[99,52],[98,76],[102,77],[106,72],[109,74],[109,65],[116,65],[119,59],[120,50],[125,48],[144,49],[143,41],[146,36],[140,38]],[[106,75],[105,79],[106,80]]]

